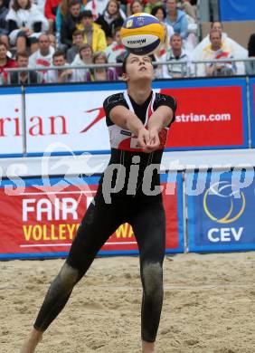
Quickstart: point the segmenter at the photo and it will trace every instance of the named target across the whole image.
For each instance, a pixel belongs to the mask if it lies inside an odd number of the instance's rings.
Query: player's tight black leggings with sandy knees
[[[66,262],[46,294],[34,328],[44,331],[61,312],[74,285],[90,268],[96,254],[118,226],[133,227],[140,253],[143,284],[141,336],[147,342],[156,340],[163,302],[163,270],[165,256],[165,211],[161,197],[133,198],[131,201],[103,202],[99,194],[84,215],[71,244]]]

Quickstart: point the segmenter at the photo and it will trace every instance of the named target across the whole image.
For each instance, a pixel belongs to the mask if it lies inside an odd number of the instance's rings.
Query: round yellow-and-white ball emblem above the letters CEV
[[[229,193],[226,193],[226,190],[228,188],[231,191]],[[245,196],[243,192],[240,192],[239,189],[237,191],[232,191],[232,190],[234,190],[234,185],[228,183],[227,181],[217,182],[206,190],[203,196],[203,209],[205,214],[210,219],[212,219],[212,221],[220,224],[229,224],[229,223],[235,222],[243,214],[245,205],[246,205]],[[241,205],[238,205],[238,208],[236,206],[237,203],[235,202],[236,198],[234,197],[234,195],[237,193],[240,193],[240,196],[241,196]],[[210,207],[208,205],[209,204],[208,199],[210,196],[217,196],[217,197],[220,197],[220,199],[222,198],[224,200],[229,199],[228,202],[230,206],[227,213],[225,213],[225,215],[222,215],[220,217],[216,217],[215,215],[213,215],[213,212],[212,210],[210,210]],[[219,200],[219,206],[221,205],[221,203],[222,201]]]

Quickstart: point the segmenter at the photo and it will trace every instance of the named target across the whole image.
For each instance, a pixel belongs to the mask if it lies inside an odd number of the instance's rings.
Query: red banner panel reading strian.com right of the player
[[[242,87],[163,89],[177,100],[166,147],[238,146],[244,143]]]

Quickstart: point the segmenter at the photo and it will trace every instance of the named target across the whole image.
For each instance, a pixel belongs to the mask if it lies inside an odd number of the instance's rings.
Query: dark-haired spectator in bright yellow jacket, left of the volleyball
[[[100,52],[106,49],[106,35],[99,28],[99,24],[93,22],[91,11],[85,10],[80,14],[80,24],[77,27],[84,33],[83,42],[89,43],[93,52]]]

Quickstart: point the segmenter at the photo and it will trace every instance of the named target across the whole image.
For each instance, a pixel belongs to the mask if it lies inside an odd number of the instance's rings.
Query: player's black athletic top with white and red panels
[[[156,151],[151,153],[143,152],[141,148],[137,147],[136,136],[130,131],[118,127],[111,121],[109,112],[118,105],[134,111],[145,126],[153,111],[158,107],[165,105],[173,110],[174,119],[172,119],[167,128],[160,131],[159,138],[161,144]],[[109,96],[104,101],[103,106],[109,129],[111,157],[109,166],[100,179],[100,186],[104,182],[104,179],[109,183],[109,180],[106,180],[108,176],[111,177],[111,188],[114,189],[114,186],[116,187],[111,195],[112,197],[152,196],[149,190],[154,190],[155,186],[159,186],[160,184],[160,163],[168,129],[175,120],[175,99],[171,96],[151,91],[151,94],[143,104],[137,104],[127,95],[127,91],[125,91]],[[114,167],[116,168],[113,172]]]

